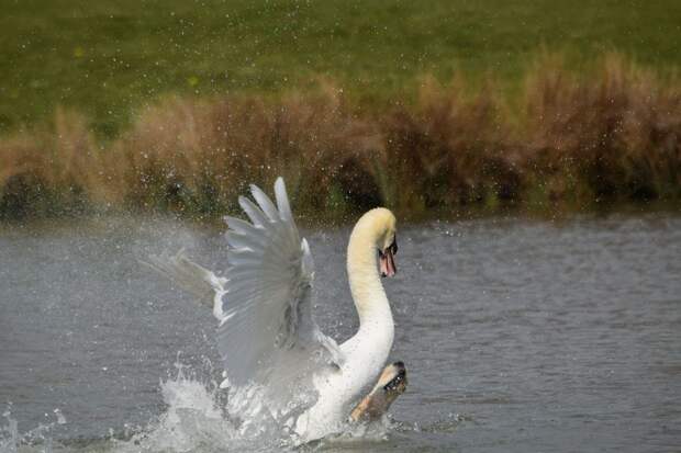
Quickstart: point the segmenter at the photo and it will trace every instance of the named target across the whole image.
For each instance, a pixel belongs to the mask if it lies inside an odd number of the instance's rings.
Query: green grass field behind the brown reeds
[[[423,75],[520,80],[542,49],[681,65],[681,1],[5,0],[0,132],[75,109],[101,137],[167,93],[277,95],[331,78],[358,105],[410,99]]]

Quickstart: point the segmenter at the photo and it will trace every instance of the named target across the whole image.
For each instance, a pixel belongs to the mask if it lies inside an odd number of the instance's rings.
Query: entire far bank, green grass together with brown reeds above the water
[[[681,3],[481,3],[8,4],[0,218],[679,206]]]

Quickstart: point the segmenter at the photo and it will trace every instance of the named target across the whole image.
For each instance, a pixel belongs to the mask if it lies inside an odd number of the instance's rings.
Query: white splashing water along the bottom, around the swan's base
[[[54,431],[67,424],[60,409],[54,409],[55,420],[40,424],[37,428],[20,433],[16,420],[11,417],[11,406],[2,414],[5,424],[0,426],[0,453],[60,453],[72,452],[213,452],[238,451],[260,453],[270,451],[294,451],[298,446],[295,434],[290,424],[281,423],[281,416],[268,407],[264,394],[258,387],[227,392],[211,380],[199,377],[187,366],[176,363],[177,373],[160,382],[160,394],[166,409],[144,428],[137,428],[131,434],[125,431],[114,434],[109,432],[98,440],[82,444],[78,441],[53,441]],[[209,373],[210,374],[210,373]],[[249,401],[259,401],[255,409],[239,412],[238,418],[231,416],[228,409],[238,406],[238,399],[247,394]],[[235,401],[228,404],[227,398]],[[301,395],[297,407],[310,403],[306,395]],[[315,442],[314,450],[336,448],[340,444],[357,444],[387,439],[392,428],[391,421],[383,417],[369,426],[348,426],[333,438]]]

